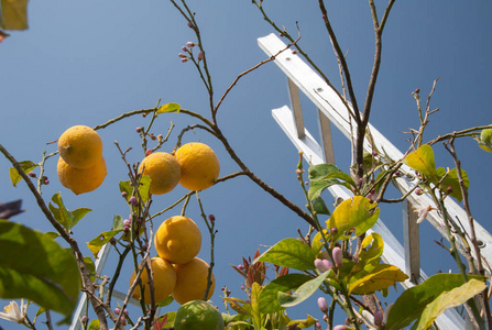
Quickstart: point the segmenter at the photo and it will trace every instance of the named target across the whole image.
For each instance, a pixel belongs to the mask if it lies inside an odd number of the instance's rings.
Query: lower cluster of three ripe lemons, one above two
[[[165,220],[154,238],[157,257],[152,258],[154,274],[154,301],[158,302],[173,296],[183,305],[188,301],[205,298],[208,283],[209,265],[196,255],[201,248],[201,233],[198,226],[189,218],[176,216]],[[130,284],[135,279],[135,272],[130,277]],[[144,301],[151,304],[149,274],[146,270],[141,275],[144,286]],[[210,273],[210,287],[206,299],[215,289],[215,277]],[[139,287],[133,292],[133,298],[140,299]]]

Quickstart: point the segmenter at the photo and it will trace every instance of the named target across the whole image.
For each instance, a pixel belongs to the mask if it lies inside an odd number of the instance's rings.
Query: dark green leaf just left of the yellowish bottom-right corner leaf
[[[472,278],[483,279],[479,276]],[[442,273],[433,275],[424,283],[403,292],[391,308],[385,329],[396,330],[409,326],[414,320],[420,318],[428,304],[442,293],[461,285],[463,285],[463,278],[460,274]]]

